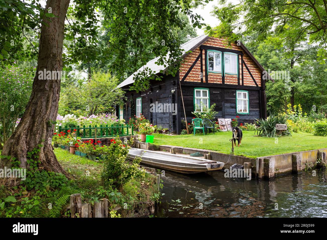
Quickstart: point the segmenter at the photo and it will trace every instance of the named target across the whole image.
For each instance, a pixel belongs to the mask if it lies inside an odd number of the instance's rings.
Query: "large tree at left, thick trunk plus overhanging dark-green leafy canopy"
[[[22,168],[27,168],[27,152],[32,151],[43,140],[44,146],[41,148],[39,160],[40,168],[49,171],[61,172],[66,174],[56,159],[51,146],[51,138],[54,132],[54,120],[58,112],[58,101],[60,95],[60,76],[46,77],[44,71],[50,73],[60,73],[63,70],[63,40],[65,36],[65,18],[66,14],[74,15],[76,21],[67,23],[68,38],[80,38],[74,51],[70,54],[64,54],[65,63],[75,63],[78,60],[92,61],[98,56],[96,51],[86,46],[97,44],[95,38],[97,23],[99,21],[95,9],[102,9],[104,13],[104,23],[111,28],[110,39],[111,45],[108,49],[109,56],[113,53],[117,55],[115,67],[117,70],[128,69],[129,65],[133,65],[139,59],[145,59],[144,55],[135,57],[131,61],[124,61],[127,48],[127,42],[132,40],[134,46],[139,47],[140,53],[144,49],[144,43],[140,41],[140,37],[145,34],[148,39],[157,39],[164,44],[154,47],[153,52],[160,56],[158,60],[161,64],[175,63],[180,56],[180,43],[177,42],[171,34],[172,26],[184,27],[184,24],[178,20],[180,11],[188,14],[192,19],[193,26],[201,26],[200,16],[190,11],[192,6],[202,4],[199,0],[196,3],[189,0],[169,1],[169,0],[74,0],[74,5],[69,7],[70,0],[47,0],[45,8],[40,8],[41,16],[41,35],[38,51],[38,65],[36,75],[34,77],[33,89],[31,97],[26,106],[25,113],[14,133],[4,144],[2,155],[16,157],[20,161]],[[32,1],[35,4],[35,1]],[[195,4],[195,5],[194,5]],[[40,22],[39,16],[34,16],[34,7],[20,2],[17,6],[16,1],[3,1],[1,6],[7,6],[6,9],[1,8],[1,16],[3,11],[10,12],[10,18],[15,20],[17,28],[11,25],[10,21],[2,22],[7,28],[10,28],[10,34],[19,38],[21,36],[18,28],[38,28]],[[68,12],[67,12],[68,9]],[[34,14],[34,15],[33,15]],[[17,16],[18,15],[18,16]],[[26,26],[25,19],[29,19],[29,25]],[[32,24],[34,23],[34,25]],[[13,27],[13,28],[11,28]],[[88,36],[88,44],[84,38]],[[7,42],[1,36],[1,41]],[[8,46],[7,46],[8,49]],[[10,55],[10,49],[6,52]],[[165,56],[170,51],[172,60],[166,60]],[[1,52],[2,51],[1,49]],[[67,52],[68,53],[68,52]],[[85,56],[88,56],[85,57]],[[71,66],[70,66],[71,69]],[[174,71],[171,69],[171,71]],[[48,76],[48,74],[46,74]],[[147,74],[140,75],[148,77]],[[139,78],[136,81],[142,86]],[[137,84],[136,83],[136,84]],[[0,167],[10,167],[10,159],[2,159]]]

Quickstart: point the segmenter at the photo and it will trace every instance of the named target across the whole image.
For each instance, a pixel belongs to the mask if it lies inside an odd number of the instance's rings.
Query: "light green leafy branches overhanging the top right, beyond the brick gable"
[[[229,36],[232,40],[255,35],[262,41],[275,28],[293,26],[294,39],[301,39],[305,34],[310,42],[317,42],[319,60],[325,61],[327,0],[242,0],[236,4],[220,0],[219,3],[212,11],[221,21],[213,29],[217,35]]]

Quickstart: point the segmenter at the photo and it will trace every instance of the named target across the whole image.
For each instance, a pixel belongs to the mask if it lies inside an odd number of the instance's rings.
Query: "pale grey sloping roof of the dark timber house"
[[[201,45],[204,41],[208,40],[209,36],[203,34],[201,36],[198,36],[196,38],[193,38],[191,40],[189,40],[188,42],[185,42],[184,44],[181,45],[181,49],[183,50],[182,56],[185,55],[188,51],[193,51],[194,48],[197,48],[198,45]],[[166,55],[166,58],[169,57],[170,52],[168,52],[168,54]],[[151,69],[152,72],[154,73],[158,73],[161,70],[165,71],[167,69],[166,66],[164,65],[157,65],[155,64],[156,61],[158,61],[159,57],[156,57],[150,61],[148,61],[146,63],[146,65],[142,66],[139,68],[139,70],[137,70],[136,72],[134,72],[132,75],[130,75],[128,78],[126,78],[121,84],[119,84],[117,87],[121,88],[124,87],[126,85],[132,84],[134,83],[133,77],[137,72],[141,72],[144,70],[144,68],[149,68]]]

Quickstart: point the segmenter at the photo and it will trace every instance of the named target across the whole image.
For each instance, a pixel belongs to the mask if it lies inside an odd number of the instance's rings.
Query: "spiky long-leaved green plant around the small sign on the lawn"
[[[258,136],[264,137],[292,136],[288,126],[287,130],[281,131],[280,134],[276,131],[276,124],[286,124],[286,120],[286,116],[275,116],[273,114],[270,114],[267,119],[256,119],[256,123],[259,127],[255,132],[257,132]]]

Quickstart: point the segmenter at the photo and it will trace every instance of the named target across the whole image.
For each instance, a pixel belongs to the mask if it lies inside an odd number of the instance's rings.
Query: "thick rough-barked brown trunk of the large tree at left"
[[[39,74],[39,71],[62,71],[62,45],[64,39],[64,22],[70,0],[47,0],[45,9],[52,10],[58,17],[51,21],[43,19],[38,66],[33,82],[32,94],[26,106],[25,113],[13,134],[3,146],[2,155],[16,157],[21,162],[22,168],[27,168],[27,152],[38,147],[42,143],[39,167],[48,171],[67,173],[61,167],[53,152],[51,140],[54,125],[49,121],[56,120],[58,113],[58,101],[60,94],[59,79]],[[45,10],[47,11],[47,10]],[[40,77],[39,77],[40,76]],[[0,167],[10,167],[9,160],[1,160]]]

